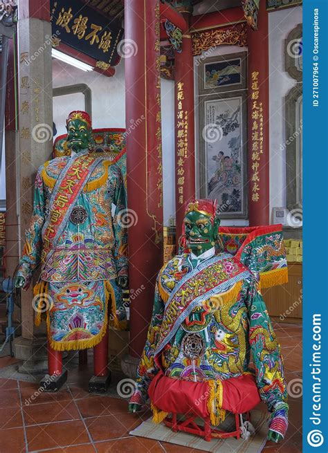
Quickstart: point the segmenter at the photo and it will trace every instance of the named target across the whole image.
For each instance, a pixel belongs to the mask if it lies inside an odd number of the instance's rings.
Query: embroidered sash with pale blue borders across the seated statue
[[[165,304],[155,356],[162,351],[197,305],[214,295],[225,293],[248,275],[250,272],[246,267],[226,253],[203,261],[184,275]]]

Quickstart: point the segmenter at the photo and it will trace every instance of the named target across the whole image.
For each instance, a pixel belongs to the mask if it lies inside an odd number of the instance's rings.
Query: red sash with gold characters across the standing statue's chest
[[[103,158],[88,155],[88,151],[72,156],[57,178],[51,194],[51,211],[42,228],[42,261],[47,256],[47,250],[54,251],[69,216],[80,196],[84,186],[97,165]],[[49,257],[49,255],[48,255]]]

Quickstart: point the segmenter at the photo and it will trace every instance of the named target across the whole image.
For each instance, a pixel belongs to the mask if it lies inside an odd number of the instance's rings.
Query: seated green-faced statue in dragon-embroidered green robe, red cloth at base
[[[278,442],[288,425],[286,381],[259,277],[286,281],[282,228],[219,230],[216,212],[212,200],[186,207],[185,252],[158,274],[129,411],[149,396],[156,423],[196,414],[217,427],[226,412],[246,414],[262,400],[271,413],[268,439]]]

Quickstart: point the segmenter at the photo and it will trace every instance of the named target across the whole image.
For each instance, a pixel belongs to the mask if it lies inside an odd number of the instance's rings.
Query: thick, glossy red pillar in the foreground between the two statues
[[[129,354],[143,351],[163,263],[159,1],[125,0],[127,200],[129,228]],[[133,221],[132,221],[133,219]]]

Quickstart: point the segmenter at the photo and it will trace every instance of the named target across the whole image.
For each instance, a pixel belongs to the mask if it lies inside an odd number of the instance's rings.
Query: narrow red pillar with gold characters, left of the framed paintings
[[[192,9],[177,8],[189,24]],[[195,194],[194,172],[194,57],[189,30],[183,34],[182,52],[174,56],[176,237],[179,238],[185,202]]]

